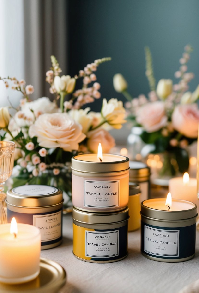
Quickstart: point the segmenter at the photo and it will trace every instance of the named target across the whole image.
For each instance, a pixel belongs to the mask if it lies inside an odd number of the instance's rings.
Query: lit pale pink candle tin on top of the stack
[[[125,156],[83,154],[72,158],[72,202],[91,212],[111,212],[128,204],[129,159]]]

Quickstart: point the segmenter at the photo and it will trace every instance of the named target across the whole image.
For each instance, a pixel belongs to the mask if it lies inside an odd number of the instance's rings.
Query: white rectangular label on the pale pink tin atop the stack
[[[119,183],[120,180],[84,180],[84,207],[118,207]]]

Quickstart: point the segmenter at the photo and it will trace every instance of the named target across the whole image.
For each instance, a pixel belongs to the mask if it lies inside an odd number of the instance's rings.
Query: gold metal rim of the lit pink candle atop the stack
[[[97,154],[89,154],[90,157],[94,160]],[[83,155],[76,155],[72,157],[71,160],[71,169],[79,172],[88,172],[88,173],[106,173],[106,172],[120,172],[129,169],[129,158],[113,155],[113,154],[103,154],[103,158],[111,156],[114,161],[84,161],[82,158]]]

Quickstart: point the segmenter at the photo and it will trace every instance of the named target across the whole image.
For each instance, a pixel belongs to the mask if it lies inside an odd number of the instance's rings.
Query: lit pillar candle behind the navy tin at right
[[[189,178],[187,172],[184,173],[183,177],[171,178],[169,180],[169,192],[172,194],[172,198],[188,200],[195,203],[199,213],[196,178]]]

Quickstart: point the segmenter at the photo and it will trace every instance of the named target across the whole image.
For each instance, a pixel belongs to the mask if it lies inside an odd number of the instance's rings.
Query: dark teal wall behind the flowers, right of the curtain
[[[145,45],[152,52],[156,82],[160,78],[176,82],[179,58],[184,46],[191,44],[194,51],[188,69],[195,79],[190,90],[199,84],[198,0],[69,0],[68,12],[68,74],[78,73],[97,58],[112,57],[97,71],[102,97],[122,98],[112,85],[118,72],[125,76],[134,97],[148,93]],[[101,107],[101,100],[96,104]]]

